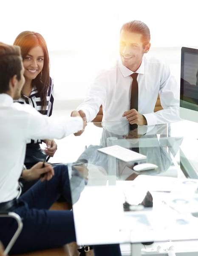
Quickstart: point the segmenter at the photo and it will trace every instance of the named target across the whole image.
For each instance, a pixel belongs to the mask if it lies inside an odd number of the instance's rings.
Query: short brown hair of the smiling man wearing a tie
[[[142,35],[143,45],[147,45],[150,42],[150,29],[149,27],[140,20],[132,20],[122,25],[120,33],[122,30],[133,32]]]

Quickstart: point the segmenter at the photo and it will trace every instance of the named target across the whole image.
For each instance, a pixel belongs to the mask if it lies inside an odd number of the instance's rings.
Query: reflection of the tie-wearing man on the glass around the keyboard
[[[133,166],[139,163],[152,163],[157,169],[141,172],[141,174],[178,177],[182,172],[174,161],[178,154],[182,137],[168,137],[168,125],[158,125],[147,134],[129,133],[128,122],[103,122],[100,140],[97,144],[90,143],[76,160],[86,159],[89,169],[93,169],[89,180],[93,182],[115,182],[115,180],[133,180],[138,172]],[[95,137],[95,136],[93,136]],[[88,137],[91,142],[91,136]],[[146,160],[124,162],[98,151],[112,145],[119,145],[146,156]],[[169,170],[170,169],[170,170]],[[169,174],[170,173],[170,174]],[[97,176],[95,179],[94,176]],[[92,179],[93,177],[93,179]],[[100,177],[100,178],[99,178]]]

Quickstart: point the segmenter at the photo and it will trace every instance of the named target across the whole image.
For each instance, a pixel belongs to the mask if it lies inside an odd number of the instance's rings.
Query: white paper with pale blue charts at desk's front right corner
[[[198,219],[174,210],[125,212],[121,230],[130,232],[130,241],[179,241],[198,239]]]

